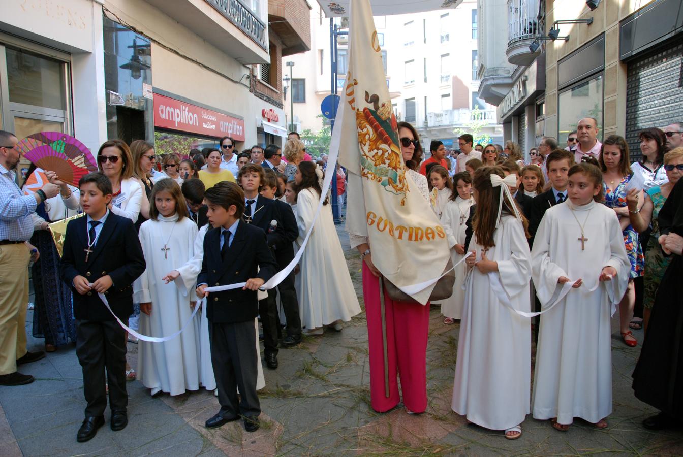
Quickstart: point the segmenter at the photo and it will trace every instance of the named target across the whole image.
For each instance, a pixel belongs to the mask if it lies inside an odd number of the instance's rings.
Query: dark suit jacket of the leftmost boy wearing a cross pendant
[[[104,293],[111,310],[124,321],[133,314],[133,281],[145,271],[145,257],[140,240],[130,219],[111,211],[104,221],[97,244],[85,261],[87,248],[87,216],[72,220],[66,226],[64,250],[59,264],[61,279],[71,287],[74,296],[74,318],[88,321],[113,321],[96,291],[85,295],[72,286],[76,276],[95,282],[109,275],[113,285]]]

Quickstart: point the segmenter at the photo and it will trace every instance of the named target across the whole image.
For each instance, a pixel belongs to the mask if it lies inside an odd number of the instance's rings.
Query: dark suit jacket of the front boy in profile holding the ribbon
[[[197,284],[221,286],[246,282],[249,278],[267,281],[277,273],[277,263],[268,249],[264,231],[241,220],[226,259],[224,263],[221,258],[221,228],[209,230],[204,237],[204,259]],[[260,267],[258,273],[257,267]],[[257,314],[255,291],[242,291],[240,288],[212,292],[206,299],[206,317],[211,322],[253,321]]]

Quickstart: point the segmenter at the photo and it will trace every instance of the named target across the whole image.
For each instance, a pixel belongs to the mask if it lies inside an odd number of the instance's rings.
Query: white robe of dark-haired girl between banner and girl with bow
[[[465,244],[466,222],[469,218],[470,207],[474,205],[474,198],[464,200],[460,195],[455,200],[449,200],[441,216],[441,224],[448,237],[448,246],[451,248],[451,261],[453,265],[460,262],[464,254],[458,254],[454,249],[456,244]],[[464,246],[465,249],[467,246]],[[453,295],[441,301],[441,314],[453,319],[462,318],[462,305],[464,304],[465,291],[462,285],[465,283],[467,265],[460,263],[455,269],[456,282],[453,284]]]

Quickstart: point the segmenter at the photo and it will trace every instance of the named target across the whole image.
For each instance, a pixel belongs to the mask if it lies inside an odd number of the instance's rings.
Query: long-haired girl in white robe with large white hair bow
[[[531,254],[527,221],[507,188],[516,185],[516,177],[507,178],[494,166],[479,168],[473,179],[475,233],[466,259],[451,407],[469,422],[517,439],[529,413],[531,323],[516,311],[531,308]]]

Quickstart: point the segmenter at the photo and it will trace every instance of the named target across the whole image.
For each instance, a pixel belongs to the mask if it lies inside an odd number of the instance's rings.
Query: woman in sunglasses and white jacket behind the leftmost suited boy
[[[102,143],[97,151],[100,171],[111,181],[113,198],[109,210],[137,222],[143,200],[143,185],[135,178],[133,158],[130,149],[122,140],[109,140]]]

